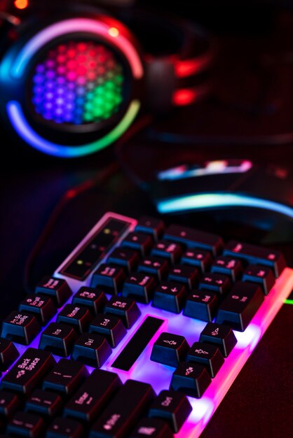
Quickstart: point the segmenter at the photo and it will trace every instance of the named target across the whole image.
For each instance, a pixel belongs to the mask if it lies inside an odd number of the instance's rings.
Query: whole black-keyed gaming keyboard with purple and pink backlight
[[[105,214],[2,322],[0,438],[198,437],[292,287],[276,250]]]

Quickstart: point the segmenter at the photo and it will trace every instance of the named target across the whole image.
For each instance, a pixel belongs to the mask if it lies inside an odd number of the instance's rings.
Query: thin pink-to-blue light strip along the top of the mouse
[[[182,178],[193,178],[196,176],[204,175],[217,175],[217,174],[243,174],[252,168],[252,162],[244,160],[238,166],[229,165],[229,162],[225,160],[208,161],[205,163],[205,167],[196,167],[194,169],[187,165],[173,167],[158,173],[158,179],[160,180],[177,180]]]

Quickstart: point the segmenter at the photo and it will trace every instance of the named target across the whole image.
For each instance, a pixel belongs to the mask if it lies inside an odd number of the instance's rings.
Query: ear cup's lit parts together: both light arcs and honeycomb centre
[[[27,41],[18,52],[10,71],[15,80],[22,78],[29,62],[46,44],[60,36],[67,37],[66,42],[59,42],[55,48],[48,50],[33,71],[33,108],[50,122],[72,125],[102,122],[111,118],[121,106],[121,64],[111,50],[98,41],[75,41],[76,38],[68,40],[72,34],[81,32],[102,36],[120,50],[128,61],[133,78],[140,79],[144,75],[142,62],[134,45],[109,20],[103,22],[90,18],[71,18],[50,25]],[[100,52],[100,61],[98,56],[93,59],[91,55],[94,52]],[[95,66],[90,65],[91,62],[95,62]],[[38,134],[29,124],[19,101],[8,101],[6,106],[11,124],[27,143],[42,152],[59,157],[78,157],[105,148],[128,129],[139,107],[138,99],[130,100],[123,118],[102,138],[80,146],[66,146],[53,143]]]

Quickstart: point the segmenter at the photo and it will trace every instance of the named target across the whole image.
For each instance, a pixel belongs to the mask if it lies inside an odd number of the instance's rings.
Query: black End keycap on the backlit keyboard
[[[119,342],[125,337],[127,330],[120,318],[113,315],[99,313],[90,323],[88,329],[90,333],[102,334],[107,339],[112,348],[118,346]]]

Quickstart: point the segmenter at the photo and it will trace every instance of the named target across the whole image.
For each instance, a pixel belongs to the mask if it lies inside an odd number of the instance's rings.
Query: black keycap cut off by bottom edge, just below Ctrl
[[[142,418],[130,438],[173,438],[174,435],[166,421],[159,418]]]

